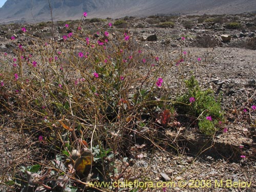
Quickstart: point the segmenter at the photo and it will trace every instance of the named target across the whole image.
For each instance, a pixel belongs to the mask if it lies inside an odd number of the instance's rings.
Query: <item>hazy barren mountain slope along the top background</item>
[[[0,8],[0,23],[41,22],[90,17],[148,16],[154,14],[236,14],[256,11],[254,0],[8,0]]]

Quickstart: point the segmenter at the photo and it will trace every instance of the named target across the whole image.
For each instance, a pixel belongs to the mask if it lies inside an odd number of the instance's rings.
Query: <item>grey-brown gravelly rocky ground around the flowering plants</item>
[[[154,147],[147,142],[134,146],[133,156],[129,158],[130,166],[123,178],[153,183],[174,182],[172,186],[145,189],[147,191],[256,191],[256,115],[250,108],[251,104],[256,104],[256,51],[255,45],[250,44],[256,33],[255,16],[181,16],[169,18],[175,25],[166,28],[158,27],[161,19],[164,22],[164,18],[157,17],[129,18],[125,27],[141,43],[143,50],[169,61],[167,65],[170,68],[165,73],[169,82],[166,87],[174,92],[179,90],[178,79],[173,75],[177,70],[174,59],[181,50],[187,52],[183,76],[193,71],[202,88],[211,88],[217,94],[223,92],[222,108],[226,112],[227,132],[209,139],[181,122],[177,130],[163,130],[161,147],[157,150],[153,150]],[[109,22],[88,23],[86,30],[93,31],[95,26],[104,26]],[[242,26],[229,29],[226,26],[230,22],[238,22]],[[17,35],[17,41],[25,43],[19,33],[20,27],[0,27],[1,56],[12,52],[9,39],[13,34]],[[112,32],[123,30],[119,27],[114,26]],[[26,28],[34,36],[46,35],[48,38],[51,34],[47,25],[27,25]],[[58,41],[62,40],[61,30],[61,26],[56,27],[55,39]],[[185,39],[182,40],[182,37]],[[198,57],[203,62],[197,61]],[[172,138],[173,143],[164,143],[165,137]],[[14,132],[10,127],[1,127],[0,173],[3,179],[0,182],[18,172],[17,167],[29,156],[40,156],[32,145],[34,143],[30,143],[28,135]],[[179,153],[173,151],[172,146],[179,148]],[[121,161],[116,161],[117,167],[120,165],[121,168],[121,164]],[[6,191],[7,188],[0,185],[1,190]]]

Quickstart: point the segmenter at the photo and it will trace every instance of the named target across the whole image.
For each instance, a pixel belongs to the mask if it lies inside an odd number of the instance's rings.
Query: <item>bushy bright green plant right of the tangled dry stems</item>
[[[178,98],[179,102],[185,103],[178,106],[178,110],[198,120],[200,131],[205,135],[212,136],[218,130],[219,122],[224,119],[219,98],[215,98],[210,89],[201,90],[195,76],[185,80],[187,91]]]

